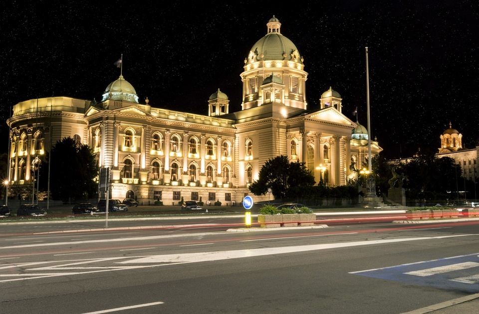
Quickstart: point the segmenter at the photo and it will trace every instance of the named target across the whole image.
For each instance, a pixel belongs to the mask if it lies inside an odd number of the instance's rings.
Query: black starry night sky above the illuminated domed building
[[[479,138],[477,0],[5,2],[1,121],[37,97],[101,100],[122,54],[140,103],[207,115],[220,88],[239,111],[244,59],[274,15],[304,58],[308,109],[331,86],[366,127],[368,46],[371,135],[387,158],[437,150],[450,122],[463,146]]]

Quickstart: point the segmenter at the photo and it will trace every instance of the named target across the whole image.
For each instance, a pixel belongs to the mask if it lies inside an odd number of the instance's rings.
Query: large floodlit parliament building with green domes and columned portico
[[[49,143],[71,137],[110,168],[112,198],[239,203],[261,166],[281,155],[305,162],[317,182],[345,185],[351,162],[362,167],[368,161],[368,131],[343,115],[341,95],[332,88],[319,109],[307,110],[303,57],[277,18],[266,26],[244,60],[238,112],[230,112],[220,89],[208,98],[205,115],[140,103],[122,72],[98,103],[48,97],[14,105],[7,120],[9,184],[31,191],[35,160],[45,158]],[[371,141],[371,155],[381,151]]]

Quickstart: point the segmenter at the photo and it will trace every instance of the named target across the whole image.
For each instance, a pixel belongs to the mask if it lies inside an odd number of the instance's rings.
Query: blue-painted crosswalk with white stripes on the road
[[[479,293],[479,253],[355,271],[350,274]]]

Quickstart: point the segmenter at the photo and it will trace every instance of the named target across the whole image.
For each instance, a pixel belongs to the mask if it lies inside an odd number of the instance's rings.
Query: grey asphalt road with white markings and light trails
[[[0,232],[2,312],[430,313],[479,293],[477,221],[240,229]]]

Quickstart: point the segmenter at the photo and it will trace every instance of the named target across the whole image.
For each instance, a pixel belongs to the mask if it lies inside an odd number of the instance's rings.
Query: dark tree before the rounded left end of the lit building
[[[56,142],[47,162],[40,166],[41,175],[48,177],[50,162],[50,191],[54,199],[88,199],[96,194],[98,163],[88,145],[76,144],[70,138]],[[41,180],[42,189],[47,190],[47,180]]]

